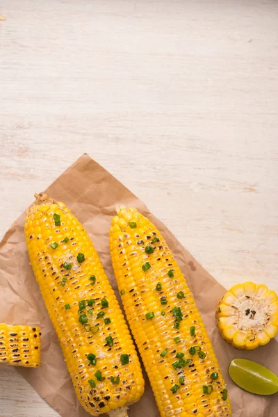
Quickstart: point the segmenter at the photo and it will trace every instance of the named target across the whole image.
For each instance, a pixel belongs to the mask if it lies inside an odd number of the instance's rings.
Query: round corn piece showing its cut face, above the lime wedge
[[[234,347],[266,345],[278,330],[277,294],[264,284],[236,284],[220,300],[216,318],[220,334]]]

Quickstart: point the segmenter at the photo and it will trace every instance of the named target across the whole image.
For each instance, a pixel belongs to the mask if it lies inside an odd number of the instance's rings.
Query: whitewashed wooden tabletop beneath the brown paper
[[[1,0],[0,237],[83,152],[224,286],[278,291],[278,3]],[[58,416],[14,369],[1,417]]]

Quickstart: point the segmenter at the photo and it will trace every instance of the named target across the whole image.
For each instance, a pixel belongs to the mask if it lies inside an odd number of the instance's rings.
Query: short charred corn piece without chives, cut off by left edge
[[[40,328],[0,323],[0,364],[40,366]]]

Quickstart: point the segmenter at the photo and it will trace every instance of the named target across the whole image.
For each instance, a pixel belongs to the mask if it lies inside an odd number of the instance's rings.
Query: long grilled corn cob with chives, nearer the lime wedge
[[[228,417],[218,361],[163,236],[135,208],[112,220],[110,248],[126,317],[162,417]]]

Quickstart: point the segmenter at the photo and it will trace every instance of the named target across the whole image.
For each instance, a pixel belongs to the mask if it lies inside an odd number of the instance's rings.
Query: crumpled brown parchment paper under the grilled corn
[[[34,193],[40,191],[42,190],[34,190]],[[111,218],[115,214],[115,205],[135,206],[147,215],[161,230],[193,291],[228,385],[233,416],[278,416],[278,395],[263,397],[247,393],[239,389],[227,373],[229,361],[235,357],[258,361],[278,373],[277,341],[272,340],[268,345],[248,352],[236,350],[222,340],[215,325],[215,309],[225,292],[224,288],[197,263],[171,232],[152,213],[149,213],[145,204],[103,167],[92,161],[87,154],[81,156],[45,191],[54,199],[65,202],[84,224],[116,293],[117,286],[108,246],[108,234]],[[60,416],[88,417],[89,414],[83,410],[74,393],[56,333],[29,265],[24,239],[24,218],[25,213],[10,227],[0,244],[0,322],[40,325],[42,365],[36,369],[17,368],[19,373],[58,411]],[[159,417],[146,375],[145,381],[145,394],[139,402],[131,406],[130,417]],[[38,416],[40,416],[39,410]]]

